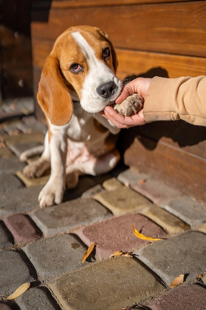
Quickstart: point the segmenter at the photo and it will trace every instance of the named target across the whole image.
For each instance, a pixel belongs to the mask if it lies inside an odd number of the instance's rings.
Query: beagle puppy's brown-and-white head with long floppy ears
[[[41,73],[37,99],[53,125],[67,124],[73,113],[70,93],[82,108],[97,113],[114,102],[122,89],[115,75],[113,45],[99,28],[71,27],[56,40]]]

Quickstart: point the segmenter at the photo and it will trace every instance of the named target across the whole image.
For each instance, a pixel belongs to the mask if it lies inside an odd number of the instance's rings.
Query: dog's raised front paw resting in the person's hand
[[[143,107],[143,98],[138,94],[128,96],[121,104],[116,104],[114,109],[124,116],[136,114]]]

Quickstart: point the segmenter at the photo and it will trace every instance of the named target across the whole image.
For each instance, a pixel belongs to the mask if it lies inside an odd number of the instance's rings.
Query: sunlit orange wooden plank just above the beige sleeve
[[[116,49],[118,76],[153,77],[155,75],[176,78],[206,74],[206,58],[164,53],[139,52]]]

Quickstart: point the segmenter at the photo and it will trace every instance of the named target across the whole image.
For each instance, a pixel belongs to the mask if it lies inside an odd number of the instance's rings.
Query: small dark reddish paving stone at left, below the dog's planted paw
[[[12,233],[17,245],[22,246],[28,242],[41,238],[41,233],[35,229],[31,219],[24,214],[13,214],[3,219],[6,227]]]

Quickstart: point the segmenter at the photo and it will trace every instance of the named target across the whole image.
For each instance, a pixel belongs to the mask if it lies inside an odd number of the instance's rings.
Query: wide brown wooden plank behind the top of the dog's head
[[[118,48],[204,57],[205,16],[206,1],[51,8],[48,23],[33,22],[32,33],[55,40],[70,26],[88,24],[102,28]]]

